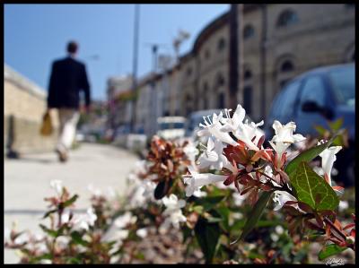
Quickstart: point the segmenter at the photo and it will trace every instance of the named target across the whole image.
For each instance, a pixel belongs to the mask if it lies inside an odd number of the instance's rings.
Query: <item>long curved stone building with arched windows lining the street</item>
[[[138,95],[147,99],[136,109],[141,114],[138,125],[153,125],[153,116],[188,117],[201,109],[235,108],[230,107],[233,89],[234,103],[241,103],[253,120],[265,119],[276,93],[296,75],[355,60],[354,4],[234,4],[232,8],[235,13],[223,13],[206,25],[193,48],[170,71],[147,77]],[[233,14],[237,16],[235,44]],[[235,74],[231,74],[233,46],[238,46]],[[234,88],[231,75],[237,75]],[[148,112],[152,108],[145,105],[156,106],[157,111]]]

